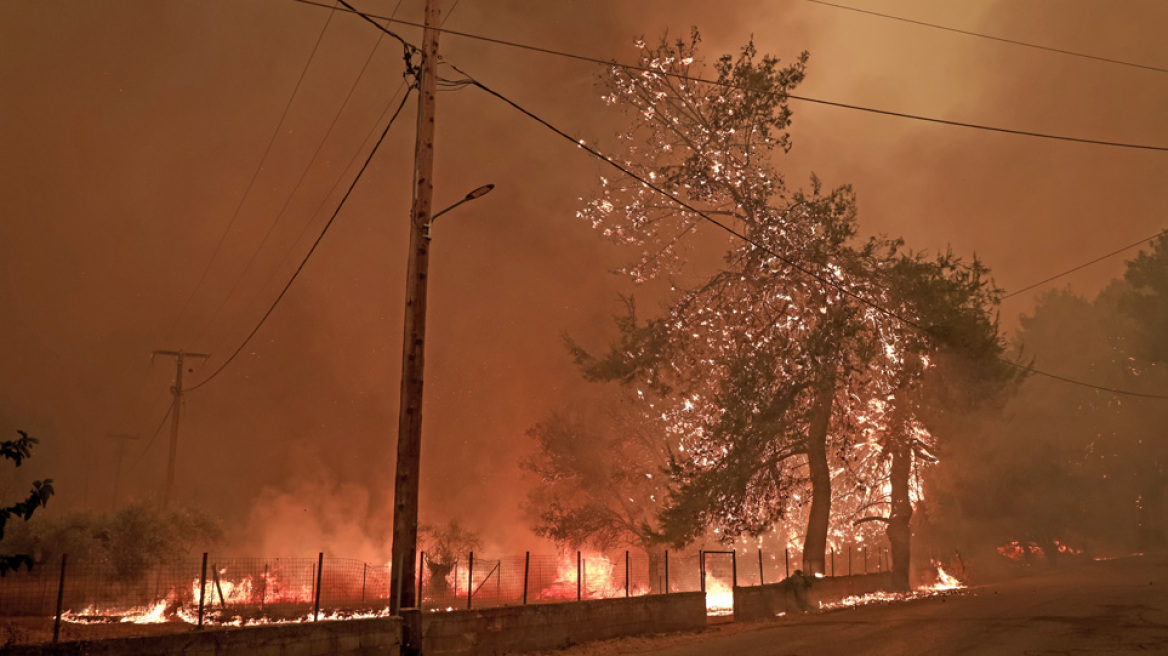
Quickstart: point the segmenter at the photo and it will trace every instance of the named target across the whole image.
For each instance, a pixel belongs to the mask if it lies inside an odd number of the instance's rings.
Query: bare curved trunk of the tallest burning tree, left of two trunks
[[[832,518],[832,470],[827,466],[827,428],[832,423],[835,377],[815,392],[811,426],[807,431],[807,469],[811,474],[811,514],[804,538],[804,574],[825,573],[827,526]]]

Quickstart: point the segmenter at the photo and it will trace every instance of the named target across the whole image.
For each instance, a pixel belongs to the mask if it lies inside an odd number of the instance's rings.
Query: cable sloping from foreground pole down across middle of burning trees
[[[890,310],[890,309],[888,309],[888,308],[885,308],[885,307],[883,307],[883,306],[881,306],[881,305],[878,305],[878,303],[876,303],[876,302],[874,302],[874,301],[871,301],[871,300],[869,300],[867,298],[864,298],[863,295],[848,289],[847,287],[843,287],[842,285],[840,285],[839,282],[832,280],[828,277],[825,277],[825,275],[822,275],[822,274],[820,274],[818,272],[814,272],[814,271],[811,271],[811,270],[808,270],[808,268],[806,268],[804,266],[800,266],[794,260],[791,260],[790,258],[785,258],[781,254],[779,254],[778,252],[773,251],[772,249],[770,249],[770,247],[767,247],[767,246],[765,246],[763,244],[759,244],[758,242],[751,239],[746,235],[744,235],[744,233],[735,230],[734,228],[726,225],[725,223],[722,223],[721,221],[711,217],[710,215],[708,215],[708,214],[703,212],[702,210],[695,208],[694,205],[689,204],[684,200],[682,200],[682,198],[680,198],[680,197],[670,194],[669,191],[662,189],[661,187],[656,186],[654,182],[649,181],[648,179],[642,177],[640,175],[637,175],[635,173],[633,173],[628,168],[621,166],[619,162],[617,162],[613,159],[609,158],[604,153],[600,153],[595,147],[589,146],[583,140],[573,138],[572,135],[568,134],[563,130],[556,127],[555,125],[548,123],[543,118],[536,116],[530,110],[527,110],[527,109],[522,107],[521,105],[519,105],[517,103],[515,103],[510,98],[507,98],[502,93],[500,93],[500,92],[498,92],[498,91],[495,91],[495,90],[486,86],[485,84],[482,84],[481,82],[479,82],[478,79],[475,79],[473,76],[471,76],[470,74],[467,74],[466,71],[459,69],[458,67],[456,67],[453,64],[451,64],[451,68],[453,68],[454,70],[457,70],[459,74],[466,76],[466,78],[470,79],[472,84],[474,84],[475,86],[478,86],[482,91],[485,91],[485,92],[489,93],[491,96],[494,96],[495,98],[498,98],[498,99],[502,100],[503,103],[510,105],[512,107],[514,107],[515,110],[517,110],[522,114],[527,116],[528,118],[530,118],[530,119],[540,123],[541,125],[543,125],[548,130],[555,132],[559,137],[562,137],[562,138],[571,141],[578,148],[582,148],[585,152],[588,152],[589,154],[591,154],[591,155],[593,155],[593,156],[596,156],[596,158],[598,158],[600,160],[604,160],[610,166],[612,166],[613,168],[620,170],[621,173],[624,173],[628,177],[631,177],[631,179],[640,182],[641,184],[644,184],[645,187],[647,187],[649,189],[653,189],[654,191],[656,191],[658,194],[665,196],[666,198],[669,198],[670,201],[673,201],[674,203],[676,203],[679,207],[681,207],[681,208],[683,208],[683,209],[686,209],[686,210],[688,210],[688,211],[690,211],[690,212],[693,212],[693,214],[702,217],[703,219],[705,219],[707,222],[709,222],[709,223],[714,224],[715,226],[719,228],[721,230],[723,230],[724,232],[729,233],[730,236],[736,237],[738,239],[742,239],[743,242],[752,245],[753,247],[756,247],[756,249],[758,249],[758,250],[760,250],[760,251],[763,251],[763,252],[765,252],[765,253],[774,257],[776,259],[783,261],[784,264],[786,264],[791,268],[794,268],[795,271],[799,271],[800,273],[802,273],[805,275],[814,278],[815,280],[819,280],[820,282],[822,282],[825,285],[834,287],[835,289],[837,289],[839,292],[843,293],[844,295],[850,296],[850,298],[855,299],[856,301],[860,301],[861,303],[870,307],[871,309],[874,309],[874,310],[876,310],[876,312],[878,312],[878,313],[881,313],[881,314],[883,314],[883,315],[885,315],[885,316],[888,316],[890,319],[894,319],[896,321],[899,321],[899,322],[904,323],[905,326],[909,326],[909,327],[912,327],[912,328],[915,328],[917,330],[920,330],[922,333],[924,333],[926,335],[929,335],[931,333],[924,326],[922,326],[922,324],[919,324],[919,323],[917,323],[917,322],[915,322],[915,321],[912,321],[912,320],[910,320],[910,319],[908,319],[905,316],[902,316],[901,314],[898,314],[896,312],[892,312],[892,310]],[[1150,393],[1145,393],[1145,392],[1133,392],[1133,391],[1128,391],[1128,390],[1119,390],[1119,389],[1115,389],[1115,388],[1107,388],[1107,386],[1104,386],[1104,385],[1096,385],[1096,384],[1092,384],[1092,383],[1086,383],[1084,381],[1077,381],[1075,378],[1068,378],[1065,376],[1059,376],[1057,374],[1049,374],[1049,372],[1043,371],[1041,369],[1035,369],[1035,368],[1033,368],[1030,365],[1021,364],[1021,363],[1007,360],[1004,357],[997,356],[996,360],[999,360],[999,361],[1001,361],[1001,362],[1003,362],[1003,363],[1006,363],[1006,364],[1008,364],[1010,367],[1014,367],[1016,369],[1021,369],[1023,371],[1027,371],[1027,372],[1030,372],[1030,374],[1034,374],[1034,375],[1037,375],[1037,376],[1044,376],[1044,377],[1048,377],[1048,378],[1052,378],[1055,381],[1062,381],[1064,383],[1070,383],[1072,385],[1079,385],[1079,386],[1083,386],[1083,388],[1087,388],[1087,389],[1092,389],[1092,390],[1097,390],[1097,391],[1104,391],[1104,392],[1108,392],[1108,393],[1113,393],[1113,395],[1122,395],[1122,396],[1131,396],[1131,397],[1140,397],[1140,398],[1150,398],[1150,399],[1159,399],[1159,400],[1168,400],[1168,396],[1163,396],[1163,395],[1150,395]]]

